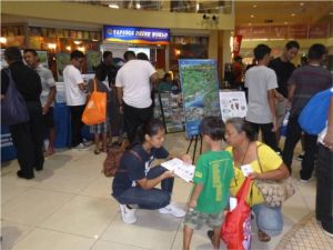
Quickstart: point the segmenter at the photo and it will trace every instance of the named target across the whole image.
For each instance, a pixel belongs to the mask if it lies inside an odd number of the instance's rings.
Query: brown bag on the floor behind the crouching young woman
[[[104,163],[103,163],[103,169],[102,169],[102,173],[104,173],[105,177],[114,177],[115,176],[115,172],[125,172],[127,170],[122,169],[120,170],[120,161],[123,157],[123,154],[125,152],[129,152],[133,156],[135,156],[140,161],[141,160],[141,157],[133,150],[125,150],[127,148],[127,143],[122,143],[122,146],[118,149],[110,149],[108,151],[108,156],[107,156],[107,159],[104,160]]]

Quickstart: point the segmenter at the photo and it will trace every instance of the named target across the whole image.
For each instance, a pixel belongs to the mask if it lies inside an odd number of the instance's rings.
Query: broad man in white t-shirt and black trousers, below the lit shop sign
[[[115,87],[129,141],[133,142],[137,128],[153,118],[150,82],[157,82],[158,73],[149,61],[137,60],[133,51],[127,51]]]

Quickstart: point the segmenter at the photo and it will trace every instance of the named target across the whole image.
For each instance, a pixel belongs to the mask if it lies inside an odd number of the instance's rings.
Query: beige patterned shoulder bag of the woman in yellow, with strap
[[[260,146],[259,146],[260,147]],[[259,149],[258,147],[258,149]],[[256,149],[256,158],[260,171],[263,172]],[[268,207],[281,207],[283,201],[295,193],[291,177],[283,180],[254,180]]]

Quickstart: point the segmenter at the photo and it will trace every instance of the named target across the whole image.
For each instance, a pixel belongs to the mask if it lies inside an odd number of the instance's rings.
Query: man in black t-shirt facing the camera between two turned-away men
[[[296,57],[300,49],[300,44],[296,41],[289,41],[284,51],[280,58],[275,58],[270,61],[269,67],[273,69],[278,77],[278,89],[275,91],[275,112],[278,120],[276,141],[280,141],[280,128],[283,123],[284,114],[286,113],[287,104],[287,80],[292,72],[295,70],[295,66],[291,63],[291,60]]]

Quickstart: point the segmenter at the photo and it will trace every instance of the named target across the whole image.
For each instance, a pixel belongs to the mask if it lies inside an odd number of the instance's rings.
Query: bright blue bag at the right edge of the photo
[[[299,123],[306,133],[319,134],[325,128],[332,94],[332,88],[321,91],[313,96],[302,109]]]

